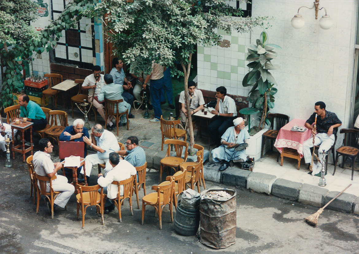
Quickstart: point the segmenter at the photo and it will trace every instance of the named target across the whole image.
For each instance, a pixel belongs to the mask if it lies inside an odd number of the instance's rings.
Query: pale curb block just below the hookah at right
[[[299,188],[298,201],[303,204],[322,207],[327,192],[328,190],[325,188],[304,183]]]

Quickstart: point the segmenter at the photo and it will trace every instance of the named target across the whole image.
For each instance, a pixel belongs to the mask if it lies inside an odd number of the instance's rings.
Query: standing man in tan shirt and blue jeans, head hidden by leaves
[[[150,75],[147,75],[145,82],[143,83],[143,89],[146,89],[147,82],[151,80],[150,92],[151,92],[151,101],[153,106],[153,111],[155,117],[150,120],[151,123],[160,123],[160,118],[162,115],[160,98],[163,90],[163,72],[166,70],[166,67],[155,63],[152,61],[152,71]]]

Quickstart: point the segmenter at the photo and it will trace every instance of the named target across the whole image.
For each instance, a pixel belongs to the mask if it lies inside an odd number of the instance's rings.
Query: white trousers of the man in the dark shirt
[[[326,133],[317,133],[314,138],[314,145],[319,145],[318,152],[322,152],[323,150],[325,151],[329,150],[334,144],[334,142],[335,142],[334,134],[328,136]],[[306,163],[312,163],[312,153],[310,149],[311,147],[313,147],[313,137],[307,139],[303,143],[303,157]],[[318,155],[318,158],[320,160],[323,159],[322,157],[323,156],[321,156],[320,154]],[[312,168],[313,170],[312,174],[319,173],[321,168],[322,168],[321,164],[317,163],[317,166]]]

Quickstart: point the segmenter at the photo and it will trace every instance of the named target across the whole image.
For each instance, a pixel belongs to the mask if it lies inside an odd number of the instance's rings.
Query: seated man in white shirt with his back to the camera
[[[111,164],[110,171],[107,172],[106,176],[100,173],[98,174],[97,183],[103,188],[103,192],[107,194],[107,198],[112,199],[117,197],[117,185],[112,184],[112,181],[122,181],[134,176],[137,172],[134,166],[132,166],[126,160],[120,161],[120,156],[117,153],[109,154],[109,163]],[[120,195],[123,195],[123,186],[120,186]],[[105,210],[111,212],[115,206],[112,200],[106,200]]]

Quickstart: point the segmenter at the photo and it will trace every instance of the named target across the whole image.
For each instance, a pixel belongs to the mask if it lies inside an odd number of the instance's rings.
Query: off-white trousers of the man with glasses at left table
[[[40,188],[40,187],[39,187]],[[62,208],[64,208],[69,201],[70,197],[75,192],[75,187],[67,183],[67,178],[64,176],[57,175],[57,178],[52,181],[52,188],[54,191],[61,191],[59,195],[56,196],[55,205],[58,205]],[[50,192],[50,183],[47,183],[47,192]]]

